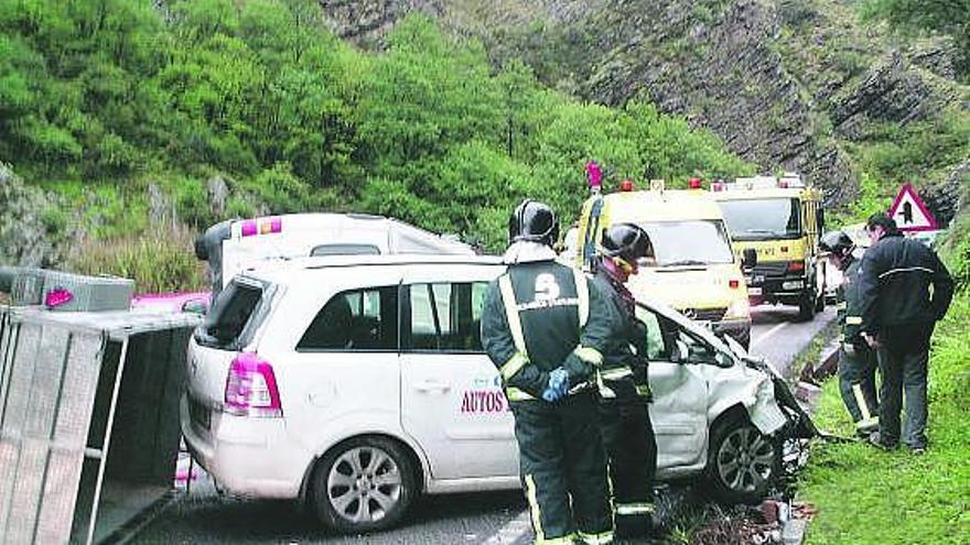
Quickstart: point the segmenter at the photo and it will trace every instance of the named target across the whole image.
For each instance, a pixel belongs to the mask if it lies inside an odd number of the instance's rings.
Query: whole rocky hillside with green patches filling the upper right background
[[[848,218],[886,209],[913,182],[946,222],[970,184],[967,0],[321,4],[364,45],[419,10],[551,87],[616,106],[647,96],[758,171],[799,171]]]

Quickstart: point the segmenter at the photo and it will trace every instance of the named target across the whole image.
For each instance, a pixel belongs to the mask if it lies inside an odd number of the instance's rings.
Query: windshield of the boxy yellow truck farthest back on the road
[[[797,198],[722,200],[720,205],[734,240],[799,237]]]

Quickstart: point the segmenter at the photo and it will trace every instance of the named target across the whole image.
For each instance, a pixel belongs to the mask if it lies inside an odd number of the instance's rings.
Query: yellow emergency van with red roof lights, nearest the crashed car
[[[576,263],[589,268],[611,225],[636,224],[649,233],[656,257],[630,276],[634,296],[664,302],[747,347],[751,310],[741,260],[718,204],[700,179],[690,187],[665,189],[662,181],[651,181],[649,190],[634,190],[626,181],[608,195],[594,187],[580,217]]]

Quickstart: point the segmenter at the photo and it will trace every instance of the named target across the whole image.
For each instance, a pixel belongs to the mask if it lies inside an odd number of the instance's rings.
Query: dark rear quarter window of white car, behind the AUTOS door
[[[398,349],[398,286],[334,295],[306,328],[297,350]]]

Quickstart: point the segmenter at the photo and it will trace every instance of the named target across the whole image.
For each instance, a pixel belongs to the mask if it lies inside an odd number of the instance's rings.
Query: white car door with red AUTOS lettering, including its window
[[[401,425],[434,479],[515,476],[514,421],[479,335],[502,268],[444,266],[414,268],[401,287]]]

